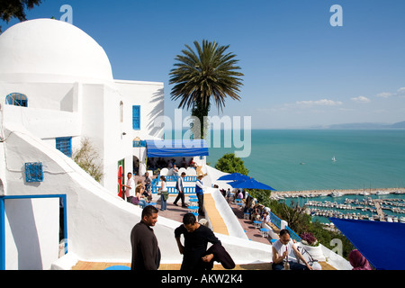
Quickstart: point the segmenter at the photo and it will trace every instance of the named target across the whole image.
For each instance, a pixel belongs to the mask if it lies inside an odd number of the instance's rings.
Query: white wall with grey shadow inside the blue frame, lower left
[[[58,259],[59,200],[7,199],[5,269],[49,270]]]

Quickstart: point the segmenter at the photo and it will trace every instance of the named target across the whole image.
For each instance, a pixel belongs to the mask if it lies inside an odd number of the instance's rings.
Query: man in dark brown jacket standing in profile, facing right
[[[157,222],[157,209],[146,206],[142,210],[141,220],[130,232],[132,246],[131,270],[157,270],[160,265],[160,249],[153,229]]]

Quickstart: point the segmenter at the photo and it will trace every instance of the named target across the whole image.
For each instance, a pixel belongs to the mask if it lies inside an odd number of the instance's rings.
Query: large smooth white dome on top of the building
[[[27,81],[112,80],[103,48],[76,26],[53,19],[18,23],[0,35],[0,76]]]

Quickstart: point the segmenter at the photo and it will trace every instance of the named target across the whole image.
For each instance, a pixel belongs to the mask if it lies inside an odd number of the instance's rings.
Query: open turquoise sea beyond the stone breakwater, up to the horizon
[[[211,166],[241,149],[213,146]],[[248,175],[278,191],[404,187],[405,130],[252,130],[242,160]]]

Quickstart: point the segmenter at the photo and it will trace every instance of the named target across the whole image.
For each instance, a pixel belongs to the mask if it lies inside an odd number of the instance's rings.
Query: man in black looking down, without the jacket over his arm
[[[184,236],[184,246],[180,236]],[[220,244],[211,229],[201,225],[195,219],[193,213],[186,213],[183,224],[175,229],[175,240],[180,254],[183,254],[181,270],[203,270],[203,260],[207,251],[208,242]]]

